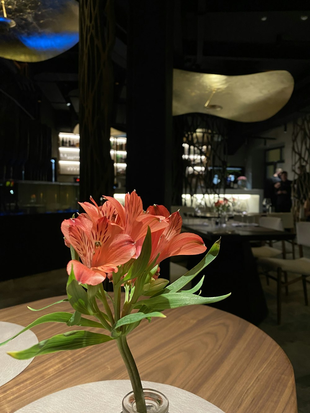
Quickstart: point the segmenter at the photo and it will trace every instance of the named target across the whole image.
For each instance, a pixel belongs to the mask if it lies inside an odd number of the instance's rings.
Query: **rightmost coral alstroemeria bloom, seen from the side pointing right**
[[[155,265],[165,258],[174,255],[201,254],[207,249],[199,235],[193,233],[181,233],[182,218],[179,211],[169,215],[169,211],[165,207],[162,205],[154,205],[153,207],[148,207],[147,212],[150,214],[165,214],[165,221],[168,223],[166,228],[152,233],[152,253],[150,262],[156,258],[157,254],[160,255],[157,258]],[[139,249],[139,244],[141,244],[141,242],[143,243],[142,239],[137,242],[137,250]]]

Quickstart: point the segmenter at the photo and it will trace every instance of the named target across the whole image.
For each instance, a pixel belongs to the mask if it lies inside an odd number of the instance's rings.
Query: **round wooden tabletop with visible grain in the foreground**
[[[28,305],[41,308],[62,298]],[[0,320],[28,325],[51,309],[71,308],[62,303],[34,314],[26,306],[1,309]],[[260,329],[209,306],[183,307],[165,314],[167,318],[153,319],[150,324],[143,321],[128,337],[142,380],[181,387],[226,413],[297,412],[291,363],[278,344]],[[42,340],[76,329],[45,323],[32,330]],[[119,379],[128,376],[115,342],[38,356],[0,388],[0,412],[13,413],[66,387]]]

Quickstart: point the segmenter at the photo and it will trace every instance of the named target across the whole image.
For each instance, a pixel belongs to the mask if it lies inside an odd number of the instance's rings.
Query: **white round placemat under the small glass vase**
[[[186,390],[161,383],[142,382],[169,400],[169,413],[224,413],[214,404]],[[107,380],[69,387],[17,410],[15,413],[120,413],[122,400],[132,390],[129,380]]]

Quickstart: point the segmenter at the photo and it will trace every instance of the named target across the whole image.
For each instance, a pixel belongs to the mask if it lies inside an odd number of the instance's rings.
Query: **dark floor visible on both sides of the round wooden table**
[[[306,249],[304,254],[310,258],[310,249]],[[289,287],[289,296],[283,297],[282,323],[277,325],[276,283],[271,280],[267,286],[263,276],[261,281],[269,316],[259,327],[284,349],[291,360],[296,378],[298,412],[309,413],[310,307],[304,304],[302,284]],[[66,282],[65,269],[0,282],[0,308],[65,294]]]

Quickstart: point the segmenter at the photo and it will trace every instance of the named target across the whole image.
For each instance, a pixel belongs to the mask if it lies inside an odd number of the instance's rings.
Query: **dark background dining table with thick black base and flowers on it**
[[[214,221],[214,218],[185,218],[182,225],[182,231],[200,235],[207,250],[221,238],[219,255],[197,276],[205,275],[201,295],[215,297],[231,292],[227,299],[210,305],[259,325],[267,317],[268,308],[250,241],[292,240],[295,234],[255,223],[230,220],[221,226]],[[188,256],[187,267],[195,266],[203,256]]]

